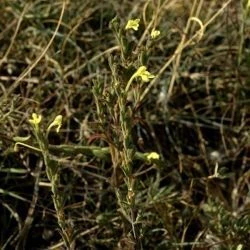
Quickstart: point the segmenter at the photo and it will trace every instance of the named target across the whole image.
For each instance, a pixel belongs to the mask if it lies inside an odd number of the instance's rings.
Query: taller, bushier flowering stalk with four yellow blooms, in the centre
[[[119,211],[122,212],[128,223],[132,226],[133,236],[130,237],[140,248],[140,237],[138,225],[137,209],[135,208],[136,197],[136,175],[133,166],[135,160],[142,160],[146,163],[157,163],[159,157],[156,153],[144,154],[136,152],[136,146],[133,142],[132,132],[135,124],[136,105],[128,103],[131,85],[137,78],[141,82],[149,82],[155,76],[151,74],[147,67],[148,50],[146,46],[141,50],[135,50],[137,44],[135,40],[129,39],[127,30],[137,31],[139,29],[140,19],[129,20],[125,27],[120,28],[119,21],[114,18],[110,22],[116,40],[120,47],[120,56],[110,56],[109,65],[112,74],[112,81],[108,86],[101,80],[96,81],[93,88],[93,94],[97,107],[97,116],[101,124],[110,124],[110,128],[103,126],[103,137],[108,142],[108,150],[105,154],[110,154],[112,160],[113,173],[110,183],[114,188]],[[135,34],[136,35],[136,34]],[[139,35],[139,34],[138,34]],[[159,35],[158,31],[152,33],[152,39]],[[138,65],[141,65],[139,68]],[[134,69],[137,70],[134,71]],[[138,91],[136,91],[138,90]],[[135,82],[133,88],[133,97],[136,103],[139,100],[140,84]],[[137,98],[138,97],[138,98]],[[103,101],[102,101],[103,100]],[[137,104],[137,103],[136,103]],[[115,128],[115,129],[112,129]],[[80,148],[78,148],[80,150]],[[86,148],[81,148],[87,150]],[[91,151],[91,153],[94,153]],[[102,152],[104,153],[104,151]],[[122,185],[125,184],[125,185]],[[125,233],[130,234],[128,227],[124,227]]]

